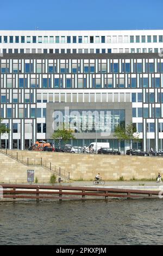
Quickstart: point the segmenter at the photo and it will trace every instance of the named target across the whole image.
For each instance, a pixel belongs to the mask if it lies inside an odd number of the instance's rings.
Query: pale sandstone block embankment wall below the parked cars
[[[44,162],[51,162],[65,169],[66,174],[70,172],[70,178],[74,180],[92,180],[97,173],[100,173],[105,180],[118,180],[122,176],[126,180],[155,179],[158,172],[163,174],[163,157],[89,155],[28,150],[12,150],[12,152],[13,154],[17,152],[18,157],[23,157],[23,159],[42,158]],[[0,180],[27,177],[27,169],[31,169],[2,154],[0,154],[0,168]],[[35,169],[35,176],[38,179],[48,179],[51,176],[48,170],[41,167],[32,167],[32,169]]]

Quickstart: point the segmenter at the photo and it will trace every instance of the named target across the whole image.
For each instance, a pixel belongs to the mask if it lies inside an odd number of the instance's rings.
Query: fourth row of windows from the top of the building
[[[29,83],[29,86],[27,87]],[[127,77],[127,78],[104,78],[104,77],[78,77],[78,78],[18,78],[18,88],[56,88],[56,89],[101,89],[101,88],[161,88],[163,84],[160,77]],[[1,88],[16,88],[15,78],[1,78]]]

